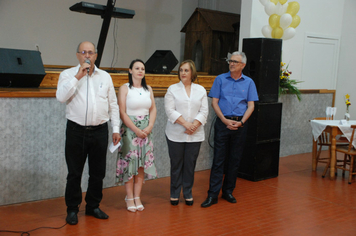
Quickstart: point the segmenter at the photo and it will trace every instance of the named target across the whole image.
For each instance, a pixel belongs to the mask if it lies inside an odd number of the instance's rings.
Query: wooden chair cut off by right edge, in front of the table
[[[353,147],[352,142],[355,136],[356,125],[351,125],[352,135],[347,146],[336,146],[336,153],[341,152],[344,153],[344,160],[341,161],[341,164],[336,163],[335,168],[342,170],[342,175],[345,175],[345,171],[349,171],[349,184],[351,184],[351,180],[353,175],[356,175],[355,168],[355,158],[356,158],[356,149]]]

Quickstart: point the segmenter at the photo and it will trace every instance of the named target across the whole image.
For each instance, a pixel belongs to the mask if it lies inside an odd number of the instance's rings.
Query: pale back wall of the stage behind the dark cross
[[[84,40],[97,44],[100,16],[72,12],[78,0],[1,0],[0,47],[35,50],[38,44],[47,65],[75,65],[75,50]],[[106,0],[90,0],[106,5]],[[112,18],[101,66],[127,68],[132,59],[147,60],[157,49],[169,49],[180,58],[181,1],[116,1],[115,7],[135,10],[133,19]],[[116,26],[115,26],[116,22]],[[118,32],[113,35],[114,28]],[[7,32],[7,33],[4,33]],[[114,53],[115,41],[117,51]]]

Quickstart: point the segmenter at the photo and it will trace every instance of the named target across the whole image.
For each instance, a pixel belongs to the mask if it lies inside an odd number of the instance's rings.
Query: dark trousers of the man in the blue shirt
[[[209,197],[217,198],[221,189],[224,194],[234,191],[237,170],[247,135],[247,123],[237,130],[230,130],[226,128],[220,118],[216,118],[214,124],[214,159],[210,172]]]

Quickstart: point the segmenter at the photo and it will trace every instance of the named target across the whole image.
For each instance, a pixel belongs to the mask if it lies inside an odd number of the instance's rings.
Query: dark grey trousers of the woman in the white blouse
[[[194,171],[201,142],[173,142],[167,137],[171,160],[171,198],[179,198],[183,188],[185,199],[193,198]]]

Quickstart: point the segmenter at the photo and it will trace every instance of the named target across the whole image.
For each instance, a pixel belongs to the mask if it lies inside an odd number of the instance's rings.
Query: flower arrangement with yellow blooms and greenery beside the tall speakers
[[[281,62],[281,70],[279,73],[279,92],[278,94],[295,94],[300,101],[301,98],[301,92],[299,89],[296,87],[296,84],[301,83],[302,81],[296,81],[290,78],[290,75],[292,74],[291,71],[288,70],[289,64],[284,68],[286,63]]]

